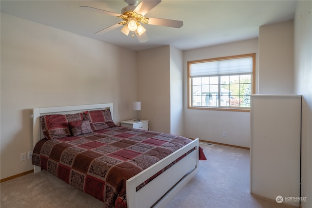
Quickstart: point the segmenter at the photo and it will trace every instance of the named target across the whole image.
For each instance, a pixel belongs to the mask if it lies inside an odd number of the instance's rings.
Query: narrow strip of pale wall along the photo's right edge
[[[294,93],[302,95],[302,208],[312,208],[312,1],[298,1],[294,19]]]

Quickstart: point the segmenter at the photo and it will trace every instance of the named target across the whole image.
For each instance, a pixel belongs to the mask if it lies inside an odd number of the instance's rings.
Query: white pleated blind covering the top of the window
[[[253,57],[225,59],[193,63],[190,65],[190,76],[214,76],[244,74],[253,72]]]

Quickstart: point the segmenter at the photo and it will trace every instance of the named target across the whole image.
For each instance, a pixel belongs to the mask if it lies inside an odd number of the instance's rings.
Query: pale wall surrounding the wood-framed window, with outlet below
[[[184,51],[184,136],[250,147],[250,113],[187,109],[187,61],[256,53],[258,38]],[[257,92],[257,81],[256,81]],[[227,136],[223,136],[223,131]]]

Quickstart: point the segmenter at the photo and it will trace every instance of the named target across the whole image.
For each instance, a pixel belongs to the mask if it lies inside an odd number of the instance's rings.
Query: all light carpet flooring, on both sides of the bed
[[[166,208],[293,208],[249,193],[249,151],[203,145],[207,160]],[[1,208],[102,208],[103,202],[47,171],[0,184]]]

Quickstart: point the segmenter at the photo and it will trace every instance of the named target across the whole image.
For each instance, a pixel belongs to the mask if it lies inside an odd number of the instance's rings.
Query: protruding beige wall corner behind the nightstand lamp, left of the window
[[[161,46],[137,52],[139,115],[156,132],[183,135],[183,52]]]

